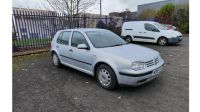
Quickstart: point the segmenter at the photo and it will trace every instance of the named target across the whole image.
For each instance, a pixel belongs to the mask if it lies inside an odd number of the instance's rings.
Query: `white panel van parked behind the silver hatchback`
[[[182,40],[180,32],[167,30],[160,23],[152,21],[124,22],[121,36],[128,43],[131,41],[141,41],[166,45],[168,43],[179,43]]]

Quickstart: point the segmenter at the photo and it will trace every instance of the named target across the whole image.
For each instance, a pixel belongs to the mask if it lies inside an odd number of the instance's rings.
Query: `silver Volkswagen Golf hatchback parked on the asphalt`
[[[141,85],[154,79],[164,60],[152,49],[127,44],[105,29],[67,29],[51,43],[53,64],[66,65],[97,78],[105,89]]]

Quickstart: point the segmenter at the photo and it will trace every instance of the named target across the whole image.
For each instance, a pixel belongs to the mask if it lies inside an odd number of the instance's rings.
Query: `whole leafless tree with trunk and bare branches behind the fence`
[[[46,0],[51,7],[58,12],[67,15],[66,21],[68,28],[79,27],[79,14],[96,3],[97,0]],[[76,18],[77,17],[77,18]],[[65,19],[65,18],[64,18]]]

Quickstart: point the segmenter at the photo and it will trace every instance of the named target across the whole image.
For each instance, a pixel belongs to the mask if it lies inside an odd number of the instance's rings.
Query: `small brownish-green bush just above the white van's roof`
[[[139,15],[138,18],[140,20],[146,20],[149,18],[155,18],[157,11],[155,9],[145,9]]]

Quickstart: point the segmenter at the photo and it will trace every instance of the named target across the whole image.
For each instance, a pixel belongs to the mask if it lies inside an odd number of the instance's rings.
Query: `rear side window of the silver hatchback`
[[[69,31],[62,32],[59,35],[57,42],[60,44],[68,45],[70,35],[71,35],[71,32],[69,32]]]

